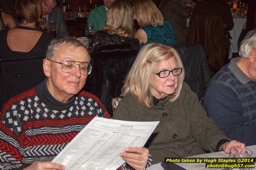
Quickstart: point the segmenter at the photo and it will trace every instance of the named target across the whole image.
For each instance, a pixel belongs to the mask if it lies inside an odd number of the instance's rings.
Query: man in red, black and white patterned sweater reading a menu
[[[52,40],[43,70],[46,79],[10,99],[0,114],[0,169],[64,170],[50,162],[95,116],[109,118],[100,100],[81,91],[91,72],[86,48],[75,38]],[[127,148],[120,154],[143,170],[151,160],[148,149]]]

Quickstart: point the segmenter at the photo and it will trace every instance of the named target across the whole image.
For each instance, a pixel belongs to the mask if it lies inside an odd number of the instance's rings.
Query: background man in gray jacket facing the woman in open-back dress
[[[67,24],[64,20],[63,11],[57,6],[58,0],[41,0],[42,18],[48,25],[54,20],[56,28],[56,38],[69,36],[67,32]]]

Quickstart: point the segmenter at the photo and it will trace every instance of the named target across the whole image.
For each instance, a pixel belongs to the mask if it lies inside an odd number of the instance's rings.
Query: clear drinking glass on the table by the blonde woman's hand
[[[252,158],[252,150],[243,147],[230,149],[230,158]],[[230,168],[230,170],[252,170],[252,168]]]

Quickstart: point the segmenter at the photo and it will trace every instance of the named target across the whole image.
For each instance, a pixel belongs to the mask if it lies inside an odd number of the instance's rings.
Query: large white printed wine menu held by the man
[[[53,159],[65,170],[116,170],[127,147],[143,147],[156,122],[132,122],[95,117]]]

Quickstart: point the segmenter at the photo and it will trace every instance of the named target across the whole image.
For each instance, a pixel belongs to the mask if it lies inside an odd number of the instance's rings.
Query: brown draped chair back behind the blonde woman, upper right
[[[192,14],[186,42],[202,44],[210,66],[224,66],[225,35],[221,15]]]

